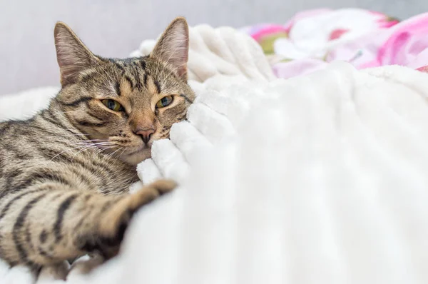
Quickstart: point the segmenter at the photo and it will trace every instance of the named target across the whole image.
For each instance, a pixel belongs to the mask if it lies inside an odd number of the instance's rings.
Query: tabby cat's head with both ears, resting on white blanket
[[[149,56],[104,59],[66,26],[55,26],[62,89],[53,101],[88,141],[136,164],[153,141],[185,119],[195,93],[187,84],[188,24],[175,19]]]

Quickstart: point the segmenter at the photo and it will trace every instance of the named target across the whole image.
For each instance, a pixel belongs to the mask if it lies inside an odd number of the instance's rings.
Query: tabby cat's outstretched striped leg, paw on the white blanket
[[[160,180],[133,194],[103,196],[49,182],[11,193],[1,203],[0,257],[34,268],[88,253],[112,258],[133,213],[175,186]]]

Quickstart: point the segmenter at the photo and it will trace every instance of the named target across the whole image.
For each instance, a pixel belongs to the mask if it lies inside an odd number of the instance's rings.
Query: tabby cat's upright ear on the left
[[[66,24],[56,23],[54,36],[62,86],[74,83],[81,71],[100,61]]]

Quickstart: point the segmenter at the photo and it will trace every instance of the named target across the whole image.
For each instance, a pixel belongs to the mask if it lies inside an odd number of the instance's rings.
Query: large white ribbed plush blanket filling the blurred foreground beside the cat
[[[427,283],[428,75],[259,73],[192,82],[188,121],[138,166],[180,188],[136,215],[121,255],[67,283]],[[0,283],[34,280],[0,264]]]

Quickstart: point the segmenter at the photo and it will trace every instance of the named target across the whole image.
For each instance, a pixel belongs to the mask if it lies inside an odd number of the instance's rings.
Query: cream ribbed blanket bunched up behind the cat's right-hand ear
[[[195,26],[189,29],[189,41],[189,80],[203,82],[218,74],[257,80],[275,78],[257,42],[235,29]],[[155,44],[156,40],[143,41],[131,56],[148,55]]]

